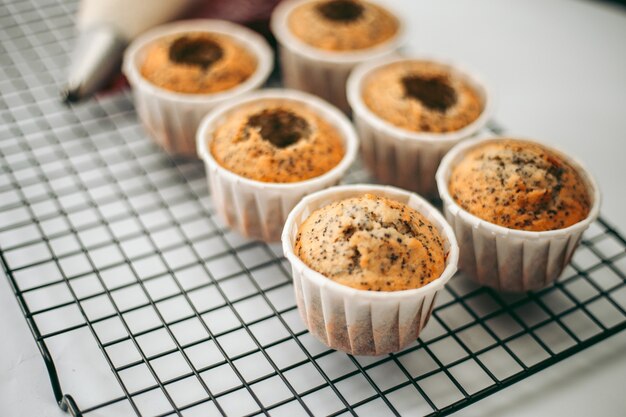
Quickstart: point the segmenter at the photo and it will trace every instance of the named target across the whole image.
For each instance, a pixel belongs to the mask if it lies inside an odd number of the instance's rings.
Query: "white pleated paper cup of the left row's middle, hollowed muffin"
[[[217,126],[238,107],[265,100],[301,103],[335,127],[345,150],[339,164],[305,181],[269,183],[242,177],[217,163],[209,149]],[[302,197],[341,180],[356,159],[359,143],[348,118],[324,100],[300,91],[269,89],[229,101],[207,115],[198,129],[197,147],[206,165],[211,199],[219,216],[242,235],[271,242],[280,240],[287,215]]]

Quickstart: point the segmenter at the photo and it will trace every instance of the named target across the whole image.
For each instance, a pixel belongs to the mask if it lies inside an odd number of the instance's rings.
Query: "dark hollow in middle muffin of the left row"
[[[304,118],[283,109],[263,110],[250,116],[247,124],[259,129],[261,137],[277,148],[286,148],[311,134]]]

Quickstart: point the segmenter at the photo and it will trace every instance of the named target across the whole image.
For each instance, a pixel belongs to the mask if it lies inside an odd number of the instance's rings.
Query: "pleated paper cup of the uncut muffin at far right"
[[[523,139],[552,150],[576,169],[593,200],[587,218],[564,229],[533,232],[498,226],[470,214],[450,195],[452,169],[472,148],[502,139],[477,139],[455,146],[437,171],[437,187],[445,216],[459,242],[459,268],[479,284],[500,291],[535,290],[556,280],[569,263],[583,232],[598,217],[600,190],[593,177],[574,158],[542,143]]]

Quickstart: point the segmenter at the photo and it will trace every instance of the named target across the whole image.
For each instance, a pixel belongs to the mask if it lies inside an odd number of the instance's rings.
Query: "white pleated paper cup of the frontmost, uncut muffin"
[[[313,211],[365,193],[407,204],[432,222],[444,238],[447,254],[439,278],[412,290],[358,290],[326,278],[295,254],[298,229]],[[379,185],[344,185],[305,197],[289,214],[282,243],[306,327],[327,346],[353,355],[382,355],[414,342],[430,318],[437,293],[456,272],[459,256],[452,228],[434,207],[414,193]]]

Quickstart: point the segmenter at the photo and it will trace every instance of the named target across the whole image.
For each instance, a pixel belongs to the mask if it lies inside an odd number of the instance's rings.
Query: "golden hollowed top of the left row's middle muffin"
[[[213,134],[211,153],[224,168],[263,182],[320,176],[343,158],[337,129],[304,104],[261,100],[233,111]]]

